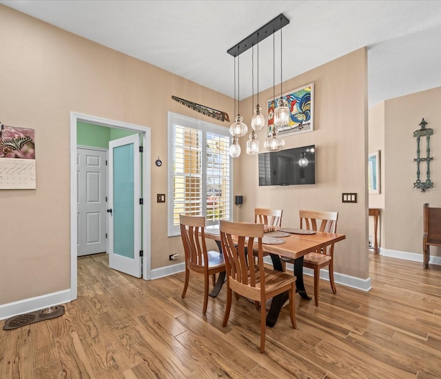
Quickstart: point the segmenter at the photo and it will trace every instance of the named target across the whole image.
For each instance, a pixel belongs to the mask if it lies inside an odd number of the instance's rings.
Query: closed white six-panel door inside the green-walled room
[[[106,251],[105,159],[105,150],[76,150],[77,256]]]

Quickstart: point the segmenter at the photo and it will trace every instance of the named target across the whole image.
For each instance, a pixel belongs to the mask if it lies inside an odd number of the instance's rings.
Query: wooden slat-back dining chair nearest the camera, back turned
[[[289,317],[296,328],[296,277],[269,269],[263,263],[263,224],[248,224],[220,220],[220,242],[227,268],[227,304],[223,326],[226,327],[232,307],[232,293],[260,302],[260,353],[265,352],[266,301],[289,291]],[[256,244],[253,246],[253,244]],[[257,264],[247,259],[247,252],[255,251]]]

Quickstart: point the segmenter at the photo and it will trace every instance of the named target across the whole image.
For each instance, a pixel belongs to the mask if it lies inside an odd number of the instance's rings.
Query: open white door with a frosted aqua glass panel
[[[109,142],[109,266],[141,278],[139,135]]]

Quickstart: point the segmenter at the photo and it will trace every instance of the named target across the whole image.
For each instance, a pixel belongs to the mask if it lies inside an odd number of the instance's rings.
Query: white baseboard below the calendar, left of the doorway
[[[20,300],[18,302],[10,302],[8,304],[0,305],[0,320],[11,318],[14,315],[20,315],[23,313],[30,313],[53,307],[54,305],[60,305],[72,300],[70,289],[64,291],[48,293],[47,295],[37,296],[35,298]]]

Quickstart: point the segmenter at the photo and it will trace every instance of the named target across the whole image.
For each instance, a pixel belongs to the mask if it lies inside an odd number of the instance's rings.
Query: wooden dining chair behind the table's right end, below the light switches
[[[300,217],[300,229],[309,231],[321,231],[325,233],[337,233],[338,212],[321,211],[298,211]],[[281,258],[282,262],[294,262]],[[283,264],[285,271],[285,264]],[[323,249],[308,253],[303,257],[303,266],[314,270],[314,300],[318,306],[318,291],[320,289],[320,269],[329,266],[329,282],[332,292],[337,293],[334,283],[334,244]]]

